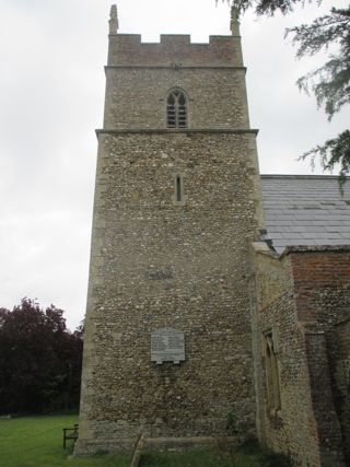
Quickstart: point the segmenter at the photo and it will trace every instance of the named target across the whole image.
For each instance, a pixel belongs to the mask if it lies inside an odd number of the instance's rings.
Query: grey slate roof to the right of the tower
[[[267,237],[285,246],[350,245],[350,178],[340,195],[327,175],[261,175]]]

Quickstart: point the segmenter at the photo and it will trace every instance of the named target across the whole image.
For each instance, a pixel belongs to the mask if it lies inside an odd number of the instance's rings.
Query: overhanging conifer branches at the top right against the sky
[[[255,8],[258,15],[283,14],[293,11],[303,0],[233,0],[238,12]],[[350,5],[345,9],[332,8],[329,14],[319,16],[312,24],[302,24],[287,30],[298,46],[296,57],[314,56],[320,50],[332,50],[328,60],[318,69],[301,77],[298,85],[312,92],[318,107],[324,107],[328,119],[350,103]],[[312,165],[319,157],[325,171],[339,166],[340,189],[350,173],[350,131],[347,129],[337,137],[317,144],[300,159],[311,157]]]

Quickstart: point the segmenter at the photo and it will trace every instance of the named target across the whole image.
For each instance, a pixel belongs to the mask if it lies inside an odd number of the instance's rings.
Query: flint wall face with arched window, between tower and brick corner
[[[256,363],[261,437],[275,451],[291,453],[296,465],[319,466],[316,422],[312,409],[306,346],[295,313],[290,257],[256,255],[257,327]],[[278,336],[281,409],[267,401],[262,334]]]

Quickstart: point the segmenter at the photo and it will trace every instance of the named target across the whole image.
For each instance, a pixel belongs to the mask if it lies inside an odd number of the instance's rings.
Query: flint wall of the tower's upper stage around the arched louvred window
[[[187,95],[188,127],[248,128],[244,69],[107,68],[105,128],[165,128],[166,96]],[[230,105],[220,105],[223,102]]]

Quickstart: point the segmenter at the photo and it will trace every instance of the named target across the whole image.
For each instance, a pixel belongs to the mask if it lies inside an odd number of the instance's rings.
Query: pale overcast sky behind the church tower
[[[0,306],[54,303],[68,326],[85,312],[97,141],[102,127],[108,0],[0,0]],[[337,1],[337,5],[347,2]],[[119,0],[119,32],[158,42],[230,34],[230,9],[214,0]],[[250,126],[261,173],[311,173],[298,155],[346,129],[329,124],[295,80],[322,58],[294,59],[284,28],[328,11],[242,19]]]

